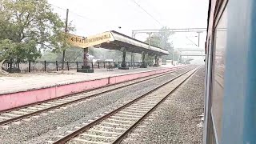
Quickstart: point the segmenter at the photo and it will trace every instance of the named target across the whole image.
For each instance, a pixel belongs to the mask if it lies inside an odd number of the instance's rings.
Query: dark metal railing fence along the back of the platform
[[[81,69],[83,62],[64,62],[63,70],[78,70]],[[119,67],[122,65],[122,62],[88,62],[90,69],[103,69],[108,66]],[[128,67],[139,67],[142,65],[142,62],[126,62]],[[147,65],[152,65],[147,63]],[[2,70],[6,70],[10,73],[30,73],[30,72],[50,72],[50,71],[59,71],[62,70],[62,62],[16,62],[16,61],[6,61]]]

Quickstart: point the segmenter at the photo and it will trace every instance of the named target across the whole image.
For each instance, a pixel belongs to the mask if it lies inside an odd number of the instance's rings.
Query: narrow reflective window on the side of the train
[[[212,122],[214,138],[217,142],[221,138],[222,130],[222,100],[224,92],[224,72],[225,72],[225,51],[226,51],[226,26],[227,26],[227,10],[219,17],[219,21],[214,31],[214,70],[213,70],[213,89],[212,89]]]

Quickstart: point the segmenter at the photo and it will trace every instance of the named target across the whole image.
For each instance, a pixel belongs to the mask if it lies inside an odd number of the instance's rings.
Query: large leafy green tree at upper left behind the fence
[[[64,22],[47,0],[0,0],[0,59],[34,60],[61,50]]]

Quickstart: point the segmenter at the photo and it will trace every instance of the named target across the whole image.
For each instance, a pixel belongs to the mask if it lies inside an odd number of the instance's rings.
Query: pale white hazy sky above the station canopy
[[[48,0],[54,11],[66,17],[70,9],[69,21],[76,27],[75,34],[88,36],[107,30],[117,30],[131,36],[132,30],[169,28],[206,28],[208,0]],[[151,18],[138,5],[154,18]],[[118,29],[121,26],[121,29]],[[198,42],[197,34],[174,34],[174,47],[191,47]],[[200,38],[201,45],[206,34]],[[146,34],[136,38],[145,40]],[[187,38],[190,38],[190,42]]]

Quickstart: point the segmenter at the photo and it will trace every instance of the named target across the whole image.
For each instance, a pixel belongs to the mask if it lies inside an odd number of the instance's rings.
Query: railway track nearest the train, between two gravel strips
[[[70,130],[65,136],[50,143],[118,143],[130,133],[148,114],[159,106],[170,94],[186,82],[198,68],[188,70],[170,79],[168,82],[157,86],[146,94],[118,107],[100,118],[77,126],[76,130]]]

